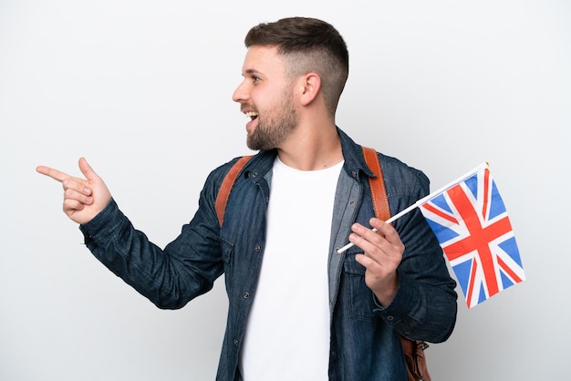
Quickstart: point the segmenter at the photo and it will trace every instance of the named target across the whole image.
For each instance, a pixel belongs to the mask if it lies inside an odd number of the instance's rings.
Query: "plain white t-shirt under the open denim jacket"
[[[244,381],[328,379],[327,258],[342,166],[304,171],[275,160],[264,260],[240,355]]]

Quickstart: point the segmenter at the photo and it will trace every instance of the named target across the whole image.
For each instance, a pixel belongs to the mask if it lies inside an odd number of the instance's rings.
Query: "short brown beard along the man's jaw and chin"
[[[258,116],[257,127],[248,134],[246,145],[249,149],[265,150],[278,148],[296,129],[297,114],[293,95],[284,94],[274,110]]]

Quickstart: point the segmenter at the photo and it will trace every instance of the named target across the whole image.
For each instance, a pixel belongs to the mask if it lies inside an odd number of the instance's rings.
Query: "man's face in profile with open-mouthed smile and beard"
[[[250,46],[242,75],[244,81],[233,98],[250,118],[246,124],[247,146],[279,148],[297,125],[293,81],[286,76],[284,58],[273,46]]]

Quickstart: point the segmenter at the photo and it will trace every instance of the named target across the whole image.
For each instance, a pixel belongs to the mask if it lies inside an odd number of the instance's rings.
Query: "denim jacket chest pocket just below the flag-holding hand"
[[[349,316],[372,321],[376,318],[373,293],[365,283],[365,267],[355,260],[355,255],[348,255],[344,263],[344,280]]]

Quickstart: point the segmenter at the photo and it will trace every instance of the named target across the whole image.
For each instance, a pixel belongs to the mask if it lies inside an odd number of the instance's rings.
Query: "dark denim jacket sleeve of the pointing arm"
[[[116,201],[79,229],[93,255],[153,304],[177,309],[206,293],[223,273],[220,229],[214,212],[217,192],[211,173],[192,221],[164,250],[136,230]]]

